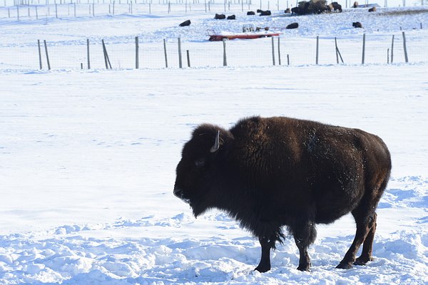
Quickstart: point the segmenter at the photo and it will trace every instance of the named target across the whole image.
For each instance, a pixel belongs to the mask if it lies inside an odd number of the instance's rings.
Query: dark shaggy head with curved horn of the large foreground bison
[[[177,165],[174,195],[190,204],[195,217],[215,207],[218,172],[222,171],[225,142],[230,132],[214,125],[200,125],[185,143]]]

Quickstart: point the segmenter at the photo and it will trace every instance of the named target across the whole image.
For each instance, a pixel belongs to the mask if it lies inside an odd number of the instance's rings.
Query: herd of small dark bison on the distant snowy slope
[[[355,1],[354,5],[352,6],[353,8],[357,8],[358,7],[358,2]],[[376,7],[372,7],[370,9],[368,9],[369,12],[375,12],[376,11]],[[327,5],[327,1],[325,0],[310,0],[310,1],[300,1],[299,2],[299,6],[295,6],[293,8],[287,8],[285,10],[285,14],[291,14],[293,15],[308,15],[308,14],[322,14],[322,13],[330,13],[330,12],[338,12],[341,13],[342,12],[342,5],[340,5],[337,2],[332,2],[331,4]],[[260,14],[260,16],[270,16],[272,15],[270,10],[257,10],[257,13]],[[255,15],[256,13],[254,11],[248,11],[247,15],[251,16],[251,15]],[[235,20],[236,16],[235,15],[230,15],[230,16],[226,16],[225,14],[215,14],[214,19],[217,20],[223,20],[223,19],[227,19],[227,20]],[[179,26],[190,26],[191,22],[190,20],[184,21],[183,23],[181,23]],[[298,28],[299,24],[297,23],[292,23],[290,25],[287,26],[287,28]],[[354,22],[352,23],[352,26],[355,28],[362,28],[362,24],[360,22]]]

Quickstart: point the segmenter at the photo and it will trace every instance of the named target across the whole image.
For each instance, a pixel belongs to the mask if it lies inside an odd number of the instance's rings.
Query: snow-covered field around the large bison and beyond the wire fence
[[[293,33],[315,36],[319,26],[344,15],[299,17],[317,24],[314,31]],[[187,16],[163,13],[156,23],[146,16],[47,24],[3,19],[0,62],[11,46],[31,46],[46,35],[72,46],[88,32],[121,41],[144,26],[144,41],[173,38]],[[379,31],[368,35],[401,32],[389,30],[399,19],[406,33],[427,42],[426,31],[410,24],[428,26],[427,12],[378,17]],[[205,26],[220,24],[205,12],[195,18],[200,40],[188,44],[210,45],[203,41]],[[326,33],[352,41],[346,33],[354,30],[335,29]],[[0,66],[0,284],[427,284],[427,64],[90,71]],[[253,271],[260,259],[257,240],[222,212],[195,219],[173,196],[175,166],[193,128],[228,128],[249,115],[319,120],[384,139],[393,170],[377,210],[374,261],[335,269],[355,234],[346,216],[317,227],[312,272],[296,270],[298,252],[288,238],[272,253],[272,270],[260,274]]]

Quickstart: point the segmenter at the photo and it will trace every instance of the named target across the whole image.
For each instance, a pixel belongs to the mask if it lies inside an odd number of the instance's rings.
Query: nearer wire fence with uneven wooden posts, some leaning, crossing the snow
[[[84,42],[84,43],[83,43]],[[89,40],[72,45],[39,40],[34,46],[2,48],[0,69],[138,69],[246,66],[301,66],[428,62],[425,43],[404,32],[389,36],[260,38],[143,43]]]

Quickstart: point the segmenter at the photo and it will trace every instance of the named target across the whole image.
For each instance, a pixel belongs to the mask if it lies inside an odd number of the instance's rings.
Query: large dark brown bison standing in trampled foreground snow
[[[299,249],[300,271],[310,270],[307,247],[315,224],[351,212],[357,232],[337,265],[372,260],[375,212],[391,171],[384,142],[363,130],[285,117],[245,118],[229,130],[203,124],[185,143],[174,195],[198,217],[221,209],[258,237],[260,272],[270,270],[270,249],[285,227]],[[357,259],[358,249],[362,254]]]

